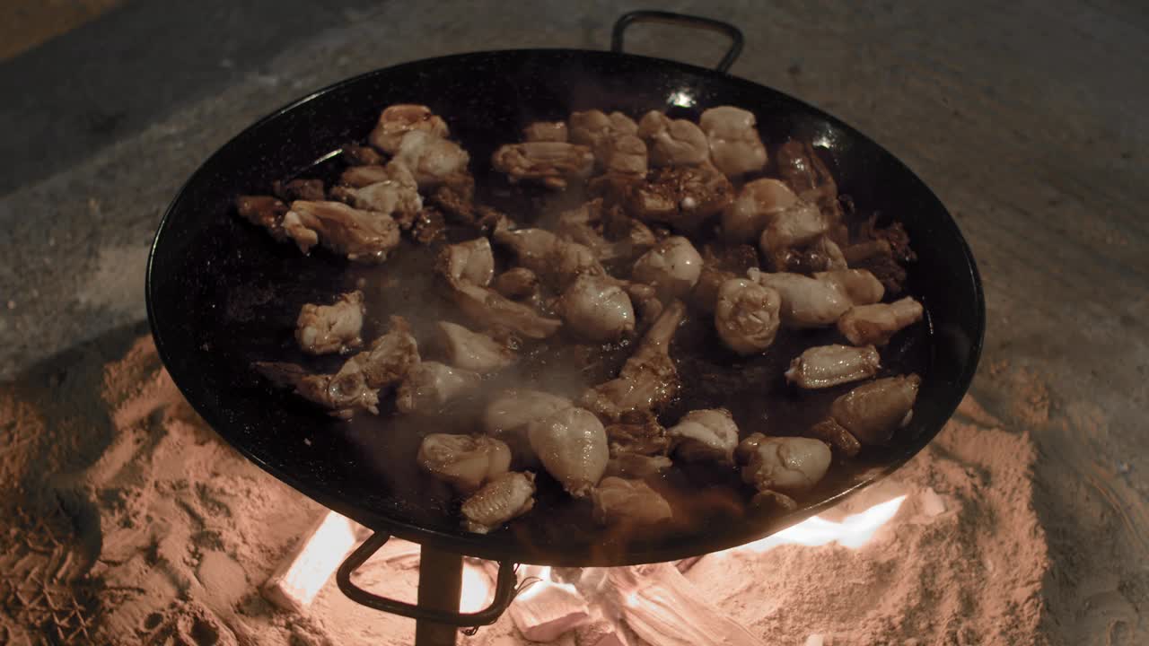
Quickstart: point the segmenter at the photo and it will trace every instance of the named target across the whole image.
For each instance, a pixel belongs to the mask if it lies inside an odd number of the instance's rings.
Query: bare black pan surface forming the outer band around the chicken
[[[686,98],[693,108],[681,107]],[[478,536],[457,529],[445,487],[415,469],[414,447],[421,433],[471,430],[462,417],[347,424],[272,391],[249,368],[256,360],[298,359],[291,331],[299,307],[353,289],[364,274],[325,253],[303,257],[291,245],[273,244],[234,216],[233,198],[268,192],[273,180],[362,139],[379,110],[395,102],[426,103],[442,115],[471,153],[480,184],[495,147],[517,140],[531,121],[564,118],[572,109],[689,115],[735,105],[756,113],[771,151],[787,136],[813,143],[841,192],[861,212],[901,221],[920,259],[910,269],[908,291],[926,305],[927,325],[884,352],[887,364],[924,377],[912,423],[889,449],[864,453],[848,469],[835,467],[836,476],[803,499],[804,507],[781,517],[724,513],[727,505],[716,497],[695,510],[699,522],[624,540],[574,524],[570,518],[579,515],[563,512],[561,497],[541,491],[539,508],[509,531]],[[385,264],[370,276],[394,270]],[[426,286],[410,282],[377,298],[432,312],[437,301]],[[723,549],[840,501],[896,469],[938,433],[972,378],[984,329],[980,282],[956,224],[909,169],[864,136],[785,94],[701,68],[548,49],[464,54],[379,70],[256,123],[213,155],[172,202],[152,251],[147,298],[156,346],[184,395],[221,436],[276,477],[379,531],[487,559],[562,566],[665,561]],[[789,425],[797,426],[793,420]],[[548,516],[550,505],[558,512]]]

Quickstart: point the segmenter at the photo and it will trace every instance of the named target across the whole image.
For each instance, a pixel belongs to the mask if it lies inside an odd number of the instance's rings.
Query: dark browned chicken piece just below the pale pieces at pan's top
[[[627,213],[643,222],[660,222],[692,233],[722,213],[734,186],[709,163],[662,168],[647,182],[631,184],[623,198]]]

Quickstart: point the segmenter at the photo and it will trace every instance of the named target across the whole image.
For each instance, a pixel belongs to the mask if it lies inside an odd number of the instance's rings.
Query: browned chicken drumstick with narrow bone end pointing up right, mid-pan
[[[678,393],[678,371],[670,359],[670,340],[686,316],[683,301],[666,306],[626,360],[618,378],[588,389],[580,402],[604,420],[624,413],[657,410]]]

